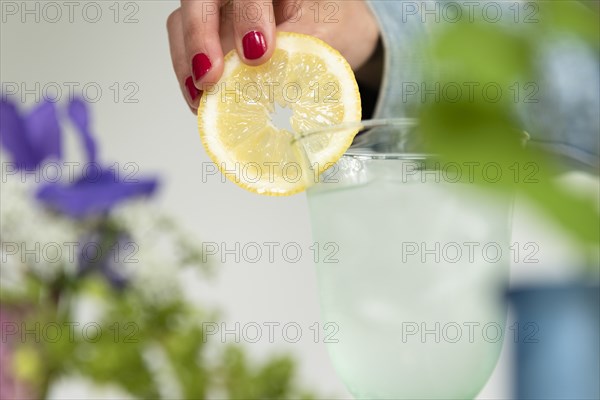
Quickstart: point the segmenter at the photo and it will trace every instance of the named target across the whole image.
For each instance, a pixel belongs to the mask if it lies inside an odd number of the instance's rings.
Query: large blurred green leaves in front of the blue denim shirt
[[[577,3],[536,3],[540,14],[538,23],[533,24],[503,26],[485,21],[448,24],[426,50],[432,58],[432,68],[427,71],[429,80],[439,82],[441,88],[452,82],[475,82],[479,88],[494,82],[506,91],[511,82],[538,81],[536,57],[552,37],[578,37],[597,51],[598,13]],[[554,182],[555,159],[531,146],[523,146],[526,134],[510,96],[491,101],[481,90],[474,93],[472,98],[463,96],[458,101],[440,95],[437,101],[428,101],[421,107],[420,127],[429,150],[446,162],[497,163],[503,172],[502,179],[490,183],[476,176],[475,183],[490,190],[524,194],[578,239],[582,248],[596,245],[600,232],[595,204]],[[534,166],[535,179],[515,179],[509,173],[515,165]]]

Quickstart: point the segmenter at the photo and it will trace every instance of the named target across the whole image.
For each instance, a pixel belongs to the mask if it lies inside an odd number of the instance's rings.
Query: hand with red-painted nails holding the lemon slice
[[[167,20],[173,68],[193,112],[202,89],[236,49],[248,65],[266,62],[276,31],[316,36],[357,70],[375,50],[379,27],[363,0],[182,0]]]

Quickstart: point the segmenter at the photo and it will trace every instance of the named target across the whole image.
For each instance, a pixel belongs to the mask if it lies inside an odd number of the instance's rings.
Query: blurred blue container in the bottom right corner
[[[520,330],[515,398],[600,398],[599,293],[577,284],[509,293]]]

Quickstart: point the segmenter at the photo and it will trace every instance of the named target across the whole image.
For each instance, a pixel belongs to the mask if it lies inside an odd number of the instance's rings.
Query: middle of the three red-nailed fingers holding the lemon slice
[[[221,0],[181,0],[186,60],[199,89],[216,83],[223,73],[220,5]]]

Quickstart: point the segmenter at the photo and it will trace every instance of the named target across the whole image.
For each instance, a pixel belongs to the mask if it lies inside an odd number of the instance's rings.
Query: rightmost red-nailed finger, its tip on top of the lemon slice
[[[233,30],[239,56],[260,65],[275,50],[275,15],[270,0],[233,0]]]

